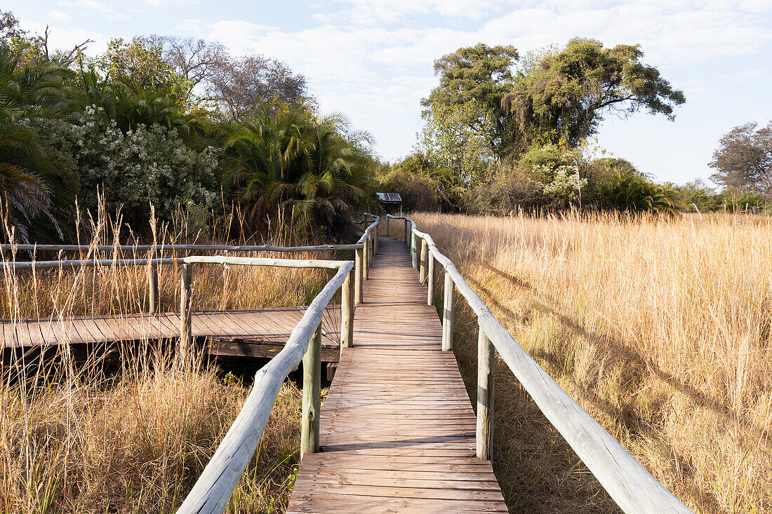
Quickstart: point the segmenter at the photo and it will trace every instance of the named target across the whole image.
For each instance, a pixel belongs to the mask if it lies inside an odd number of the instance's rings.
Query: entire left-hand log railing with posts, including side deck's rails
[[[350,347],[354,335],[355,303],[361,303],[362,279],[367,279],[372,257],[378,251],[378,226],[381,218],[367,226],[364,234],[354,245],[321,245],[305,247],[276,246],[229,246],[229,245],[168,245],[168,246],[80,246],[80,245],[0,245],[2,250],[46,250],[46,251],[93,251],[134,250],[155,252],[164,249],[229,252],[309,252],[314,250],[355,251],[355,262],[300,259],[265,259],[250,257],[229,257],[220,255],[198,255],[173,259],[92,259],[59,260],[41,262],[9,262],[3,264],[11,269],[42,269],[81,267],[94,265],[148,265],[151,268],[151,297],[154,295],[153,270],[157,265],[180,264],[182,268],[181,305],[181,347],[190,340],[190,298],[191,269],[195,263],[229,265],[269,265],[293,268],[337,269],[335,276],[327,282],[322,291],[313,299],[292,333],[283,350],[262,367],[255,375],[252,391],[229,431],[225,434],[215,455],[208,462],[198,481],[183,502],[178,512],[223,512],[233,495],[244,470],[262,437],[269,414],[287,375],[303,362],[303,411],[300,438],[300,454],[319,451],[319,411],[321,405],[321,346],[322,320],[324,309],[337,290],[341,290],[341,349]],[[155,279],[157,287],[157,275]],[[156,298],[157,298],[157,293]]]

